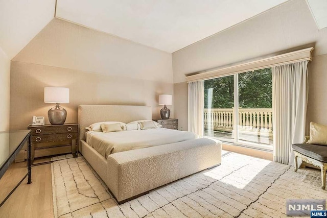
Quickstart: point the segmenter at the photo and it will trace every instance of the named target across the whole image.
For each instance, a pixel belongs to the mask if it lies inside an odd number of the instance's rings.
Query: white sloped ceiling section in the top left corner
[[[55,14],[55,0],[0,0],[0,47],[12,59]]]

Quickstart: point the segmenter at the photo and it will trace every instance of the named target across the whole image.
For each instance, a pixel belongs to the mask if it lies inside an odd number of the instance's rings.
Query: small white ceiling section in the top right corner
[[[308,0],[309,7],[319,29],[327,27],[327,1]]]

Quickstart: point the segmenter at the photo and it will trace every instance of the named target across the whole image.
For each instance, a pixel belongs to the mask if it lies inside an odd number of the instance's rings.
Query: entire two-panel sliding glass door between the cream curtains
[[[204,81],[204,136],[272,150],[271,68]]]

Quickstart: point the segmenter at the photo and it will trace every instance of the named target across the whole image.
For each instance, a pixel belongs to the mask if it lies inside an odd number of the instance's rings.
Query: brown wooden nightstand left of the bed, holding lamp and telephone
[[[31,130],[32,160],[36,157],[78,153],[78,124],[28,126]]]

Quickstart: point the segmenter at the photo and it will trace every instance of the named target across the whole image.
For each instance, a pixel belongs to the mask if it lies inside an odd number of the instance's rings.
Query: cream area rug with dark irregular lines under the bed
[[[320,173],[236,153],[118,205],[83,157],[52,163],[55,217],[285,217],[287,199],[327,199]]]

